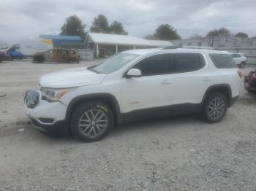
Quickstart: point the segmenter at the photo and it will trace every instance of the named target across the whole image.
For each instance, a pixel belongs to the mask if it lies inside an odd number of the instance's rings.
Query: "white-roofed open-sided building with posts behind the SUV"
[[[97,33],[87,34],[85,43],[89,44],[89,46],[94,49],[94,54],[97,58],[108,57],[124,50],[168,47],[174,45],[169,41],[154,41],[128,35]]]

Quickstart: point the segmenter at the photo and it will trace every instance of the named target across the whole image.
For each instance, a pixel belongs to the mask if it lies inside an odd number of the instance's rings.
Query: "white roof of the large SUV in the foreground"
[[[170,53],[218,53],[218,54],[227,54],[226,51],[220,50],[205,50],[205,49],[190,49],[190,48],[175,48],[175,49],[138,49],[138,50],[127,50],[125,53],[129,54],[138,54],[138,55],[146,55],[152,53],[161,53],[161,52],[170,52]]]

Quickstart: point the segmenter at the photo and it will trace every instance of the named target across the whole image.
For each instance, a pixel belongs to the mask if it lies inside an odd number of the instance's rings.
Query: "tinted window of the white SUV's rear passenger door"
[[[189,72],[202,69],[205,66],[203,56],[195,53],[174,54],[175,72]]]

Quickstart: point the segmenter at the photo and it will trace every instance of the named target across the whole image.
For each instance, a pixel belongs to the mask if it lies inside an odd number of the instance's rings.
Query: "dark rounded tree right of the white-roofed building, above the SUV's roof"
[[[154,36],[160,40],[176,40],[181,39],[181,37],[177,34],[177,30],[170,26],[169,24],[160,25]]]

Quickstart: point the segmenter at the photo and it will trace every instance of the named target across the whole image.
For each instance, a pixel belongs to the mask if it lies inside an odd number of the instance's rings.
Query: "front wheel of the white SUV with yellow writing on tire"
[[[111,109],[101,102],[87,102],[72,113],[70,128],[72,135],[83,141],[99,141],[113,128]]]

